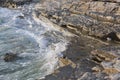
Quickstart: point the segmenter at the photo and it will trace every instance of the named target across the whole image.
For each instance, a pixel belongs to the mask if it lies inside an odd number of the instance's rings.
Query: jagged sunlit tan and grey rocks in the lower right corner
[[[111,80],[119,80],[120,73],[120,53],[118,46],[106,47],[92,51],[93,61],[99,63],[104,72]],[[115,76],[116,75],[116,76]]]

